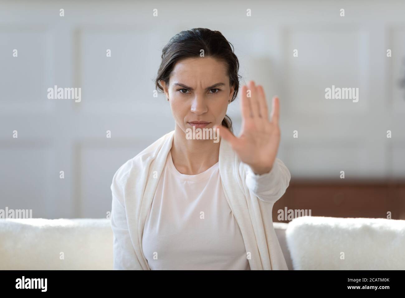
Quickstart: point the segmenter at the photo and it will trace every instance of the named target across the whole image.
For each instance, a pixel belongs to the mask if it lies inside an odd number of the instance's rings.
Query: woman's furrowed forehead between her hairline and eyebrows
[[[228,83],[226,64],[211,57],[187,58],[176,63],[170,76],[171,83],[186,85],[197,83]]]

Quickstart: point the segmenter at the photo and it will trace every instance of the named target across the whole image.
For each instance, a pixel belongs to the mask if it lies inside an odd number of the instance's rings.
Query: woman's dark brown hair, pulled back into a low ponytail
[[[232,48],[230,47],[232,46]],[[234,54],[233,45],[226,40],[221,32],[209,30],[207,28],[193,28],[183,30],[173,36],[162,49],[162,62],[160,63],[158,75],[155,79],[156,90],[163,91],[159,81],[166,84],[173,68],[179,60],[185,58],[200,57],[200,50],[204,50],[205,57],[212,57],[225,62],[227,66],[229,85],[234,86],[234,92],[231,102],[236,99],[239,90],[239,60]],[[232,120],[225,115],[222,125],[232,130]]]

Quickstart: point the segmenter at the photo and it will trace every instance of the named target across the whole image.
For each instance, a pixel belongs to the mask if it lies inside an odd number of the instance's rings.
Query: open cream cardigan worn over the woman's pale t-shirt
[[[111,184],[114,269],[150,270],[142,251],[143,227],[173,137],[174,131],[167,133],[126,161],[114,174]],[[288,270],[272,220],[273,204],[290,183],[287,167],[276,158],[269,173],[255,175],[241,162],[229,142],[221,139],[219,169],[251,270]]]

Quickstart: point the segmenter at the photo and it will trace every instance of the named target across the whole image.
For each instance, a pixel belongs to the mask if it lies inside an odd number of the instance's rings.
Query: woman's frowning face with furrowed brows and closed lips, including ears
[[[234,87],[226,65],[211,57],[187,58],[175,65],[168,86],[160,81],[177,126],[185,130],[213,128],[225,117]],[[190,122],[207,122],[192,124]]]

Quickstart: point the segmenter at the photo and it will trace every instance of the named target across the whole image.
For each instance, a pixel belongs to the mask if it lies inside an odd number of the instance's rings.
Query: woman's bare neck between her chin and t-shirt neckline
[[[196,175],[209,169],[218,162],[220,141],[212,139],[186,139],[186,134],[175,126],[172,148],[173,164],[181,174]]]

